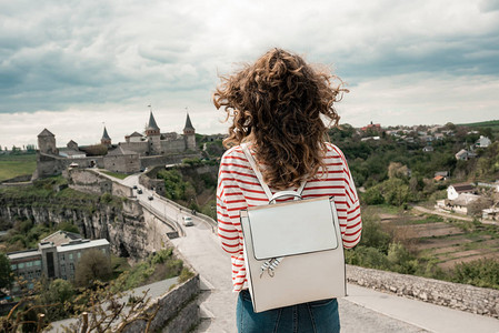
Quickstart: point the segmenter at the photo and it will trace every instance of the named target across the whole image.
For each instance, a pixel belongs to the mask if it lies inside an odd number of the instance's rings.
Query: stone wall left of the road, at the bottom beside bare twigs
[[[152,304],[159,303],[159,311],[151,322],[150,332],[189,332],[199,322],[199,305],[196,299],[200,292],[199,275],[176,286],[167,294],[156,299]],[[154,311],[151,305],[149,311]],[[127,325],[124,333],[144,332],[147,323],[138,320]]]

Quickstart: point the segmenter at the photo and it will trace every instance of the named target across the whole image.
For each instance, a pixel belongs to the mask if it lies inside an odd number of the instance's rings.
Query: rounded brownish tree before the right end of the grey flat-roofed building
[[[78,286],[89,286],[94,280],[107,280],[111,272],[111,260],[102,251],[91,249],[77,263],[74,283]]]

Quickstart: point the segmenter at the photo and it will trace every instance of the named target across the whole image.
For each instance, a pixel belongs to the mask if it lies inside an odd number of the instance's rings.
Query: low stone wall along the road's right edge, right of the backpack
[[[499,317],[499,290],[347,265],[347,281],[476,314]]]

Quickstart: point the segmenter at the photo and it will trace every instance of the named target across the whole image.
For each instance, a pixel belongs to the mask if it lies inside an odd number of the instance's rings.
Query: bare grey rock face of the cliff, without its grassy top
[[[133,200],[120,205],[68,198],[40,202],[40,198],[19,201],[0,196],[0,219],[11,223],[16,219],[29,219],[47,225],[70,221],[84,238],[107,239],[119,256],[137,260],[149,254],[143,212]]]

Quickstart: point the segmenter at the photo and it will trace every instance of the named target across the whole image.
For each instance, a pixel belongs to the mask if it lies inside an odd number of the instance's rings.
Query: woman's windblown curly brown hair
[[[335,81],[339,81],[333,87]],[[312,68],[281,49],[272,49],[253,64],[229,77],[213,93],[217,109],[233,118],[226,147],[253,143],[266,183],[277,190],[298,186],[323,167],[327,131],[322,118],[337,125],[333,103],[341,100],[342,81]]]

